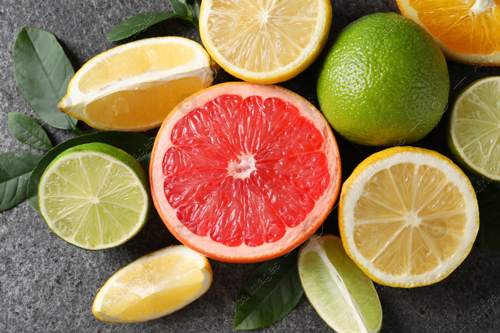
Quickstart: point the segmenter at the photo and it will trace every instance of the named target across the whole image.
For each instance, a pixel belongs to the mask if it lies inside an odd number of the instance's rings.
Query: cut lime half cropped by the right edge
[[[448,146],[469,170],[500,181],[500,76],[465,87],[456,97],[449,121]]]

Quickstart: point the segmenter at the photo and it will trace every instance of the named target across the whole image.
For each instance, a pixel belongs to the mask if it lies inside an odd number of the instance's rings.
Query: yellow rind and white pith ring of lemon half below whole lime
[[[357,199],[363,192],[366,182],[379,170],[386,169],[394,164],[410,162],[417,165],[425,164],[435,167],[445,173],[448,180],[453,181],[461,194],[465,197],[467,205],[467,223],[464,234],[466,235],[457,249],[456,254],[450,260],[445,261],[439,267],[421,276],[407,274],[404,277],[384,274],[374,264],[364,258],[353,240],[353,211]],[[392,147],[374,153],[362,161],[342,185],[338,204],[338,228],[345,252],[359,266],[359,268],[374,282],[401,288],[413,288],[427,286],[446,278],[453,270],[465,260],[475,241],[479,230],[479,210],[475,192],[463,171],[458,168],[447,157],[423,148],[415,147]]]

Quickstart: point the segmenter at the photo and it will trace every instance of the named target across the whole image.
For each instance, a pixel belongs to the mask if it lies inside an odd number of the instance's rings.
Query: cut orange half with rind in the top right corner
[[[424,27],[454,61],[500,65],[500,1],[396,0],[401,13]]]

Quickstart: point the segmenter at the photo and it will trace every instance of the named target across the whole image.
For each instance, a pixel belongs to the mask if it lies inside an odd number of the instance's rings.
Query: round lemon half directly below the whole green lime
[[[345,251],[376,283],[430,285],[468,255],[479,229],[475,193],[448,158],[393,147],[366,158],[342,186]]]

